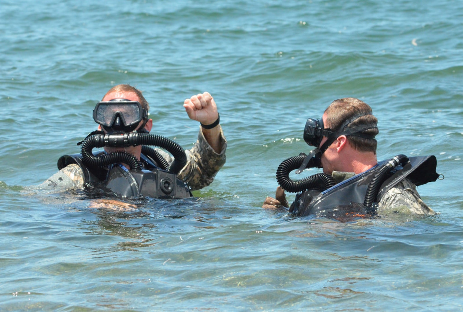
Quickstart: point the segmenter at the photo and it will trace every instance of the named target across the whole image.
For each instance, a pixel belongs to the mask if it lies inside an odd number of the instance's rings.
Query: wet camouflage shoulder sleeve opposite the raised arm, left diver
[[[81,189],[84,187],[84,173],[81,167],[76,164],[67,165],[39,186],[44,188]]]

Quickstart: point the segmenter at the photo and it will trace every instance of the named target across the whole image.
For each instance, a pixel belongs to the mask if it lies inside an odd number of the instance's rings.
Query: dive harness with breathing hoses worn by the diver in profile
[[[311,151],[311,157],[301,153],[284,160],[276,171],[277,182],[284,190],[291,193],[302,192],[296,195],[290,208],[290,212],[299,216],[315,214],[338,217],[339,214],[349,211],[374,216],[377,202],[402,179],[407,178],[418,186],[434,182],[439,177],[435,156],[408,158],[397,155],[338,184],[335,184],[332,176],[325,173],[317,173],[301,180],[291,179],[289,173],[295,169],[319,167],[320,152],[317,150]]]

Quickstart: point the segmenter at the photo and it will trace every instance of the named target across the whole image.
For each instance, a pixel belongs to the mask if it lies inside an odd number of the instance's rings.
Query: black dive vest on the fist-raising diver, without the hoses
[[[84,184],[103,186],[123,197],[147,196],[152,198],[187,198],[192,194],[187,184],[175,173],[158,168],[154,161],[141,154],[144,165],[141,171],[130,171],[122,165],[107,168],[90,168],[81,154],[64,155],[58,159],[58,169],[77,164],[84,173]]]

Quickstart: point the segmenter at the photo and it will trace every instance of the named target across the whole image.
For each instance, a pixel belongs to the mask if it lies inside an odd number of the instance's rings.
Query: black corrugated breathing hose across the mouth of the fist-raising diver
[[[180,145],[161,135],[150,135],[147,133],[90,135],[82,143],[82,160],[84,163],[94,167],[102,167],[122,162],[129,165],[131,170],[141,170],[141,165],[138,159],[129,153],[117,152],[99,156],[95,156],[92,153],[92,149],[94,147],[129,147],[137,145],[154,145],[171,153],[175,160],[169,168],[167,168],[167,171],[169,172],[178,173],[181,168],[187,164],[187,155]]]

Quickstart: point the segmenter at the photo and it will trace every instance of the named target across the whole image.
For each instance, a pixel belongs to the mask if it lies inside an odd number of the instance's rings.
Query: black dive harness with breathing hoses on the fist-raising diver
[[[147,133],[104,134],[90,133],[83,141],[81,154],[64,155],[58,159],[58,169],[77,164],[84,172],[87,187],[102,185],[123,197],[148,196],[152,198],[187,198],[192,196],[188,185],[177,174],[187,163],[183,148],[168,138]],[[129,147],[142,145],[141,161],[130,153],[100,152],[94,147]],[[161,147],[174,157],[169,165],[155,149]],[[121,163],[127,164],[130,170]]]

